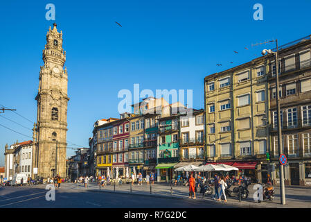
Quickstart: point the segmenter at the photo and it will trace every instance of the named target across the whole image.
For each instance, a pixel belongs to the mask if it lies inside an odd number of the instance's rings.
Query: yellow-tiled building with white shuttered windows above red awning
[[[267,176],[269,101],[263,57],[204,78],[207,162]]]

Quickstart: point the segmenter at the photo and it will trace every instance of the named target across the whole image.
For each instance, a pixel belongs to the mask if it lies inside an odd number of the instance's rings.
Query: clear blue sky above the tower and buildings
[[[133,91],[134,83],[154,93],[193,89],[193,107],[204,108],[204,76],[260,56],[263,46],[251,47],[256,42],[285,44],[311,34],[309,0],[1,1],[0,104],[30,121],[36,121],[42,49],[54,22],[45,19],[47,3],[55,5],[64,37],[67,139],[80,146],[88,146],[97,119],[118,117],[121,89]],[[253,19],[255,3],[263,5],[263,21]],[[3,126],[32,136],[30,121],[9,111],[1,116],[26,128],[0,118]],[[30,138],[0,126],[0,166],[4,146],[17,139]]]

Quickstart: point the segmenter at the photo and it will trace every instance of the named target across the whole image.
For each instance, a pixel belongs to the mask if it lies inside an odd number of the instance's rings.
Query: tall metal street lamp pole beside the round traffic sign
[[[283,154],[283,146],[282,146],[282,128],[281,128],[281,112],[280,112],[280,98],[278,94],[278,40],[274,40],[276,42],[276,52],[271,49],[264,49],[262,51],[262,55],[274,55],[275,56],[275,64],[276,64],[276,110],[277,110],[277,119],[278,119],[278,155]],[[285,205],[285,185],[284,185],[284,166],[280,163],[280,189],[281,189],[281,204]]]

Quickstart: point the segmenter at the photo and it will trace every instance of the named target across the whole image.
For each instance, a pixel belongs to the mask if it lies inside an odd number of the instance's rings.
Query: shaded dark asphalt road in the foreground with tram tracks
[[[1,187],[0,208],[53,208],[53,207],[125,207],[125,208],[215,208],[229,207],[224,204],[206,203],[192,199],[170,199],[131,194],[109,194],[105,192],[76,189],[76,185],[64,185],[55,190],[55,201],[46,200],[44,186]]]

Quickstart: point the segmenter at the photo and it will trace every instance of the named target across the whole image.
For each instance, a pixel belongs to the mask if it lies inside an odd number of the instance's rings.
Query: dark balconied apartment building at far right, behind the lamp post
[[[285,44],[279,51],[279,89],[285,185],[311,186],[311,40]],[[275,58],[269,57],[272,177],[279,183]]]

